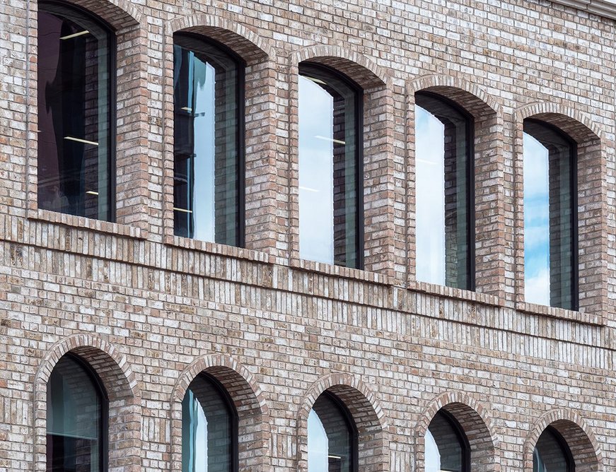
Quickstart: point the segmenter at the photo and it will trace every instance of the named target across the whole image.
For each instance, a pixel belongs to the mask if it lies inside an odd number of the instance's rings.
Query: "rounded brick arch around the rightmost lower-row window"
[[[558,409],[544,413],[530,428],[524,442],[524,470],[533,470],[535,445],[546,427],[552,426],[566,441],[576,472],[603,472],[603,452],[593,431],[576,412]]]

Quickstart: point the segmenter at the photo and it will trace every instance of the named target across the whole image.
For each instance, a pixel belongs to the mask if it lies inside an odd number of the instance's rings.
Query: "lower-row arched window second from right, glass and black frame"
[[[426,472],[470,472],[470,447],[458,421],[438,411],[426,431]]]

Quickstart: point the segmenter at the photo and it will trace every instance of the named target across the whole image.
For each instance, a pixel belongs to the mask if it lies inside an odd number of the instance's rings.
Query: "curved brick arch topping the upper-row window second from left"
[[[275,61],[274,48],[265,38],[241,23],[224,18],[225,13],[220,11],[220,15],[216,16],[202,13],[173,18],[165,24],[165,33],[195,33],[209,37],[233,50],[248,65],[268,59]]]

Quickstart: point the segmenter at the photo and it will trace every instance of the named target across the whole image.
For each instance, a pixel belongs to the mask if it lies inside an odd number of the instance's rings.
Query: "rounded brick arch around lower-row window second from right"
[[[415,426],[415,454],[417,471],[424,472],[425,435],[432,418],[445,410],[458,420],[470,444],[473,472],[501,470],[500,440],[494,433],[489,409],[461,391],[447,391],[436,397],[424,410]]]

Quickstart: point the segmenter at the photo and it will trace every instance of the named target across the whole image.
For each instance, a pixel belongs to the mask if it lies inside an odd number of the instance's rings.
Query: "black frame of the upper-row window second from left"
[[[202,42],[206,45],[219,49],[223,54],[230,57],[236,65],[238,75],[238,84],[236,87],[236,100],[238,103],[238,122],[237,122],[237,139],[236,148],[238,150],[236,172],[238,186],[238,208],[236,218],[236,228],[238,230],[236,247],[245,247],[246,245],[246,61],[231,47],[228,47],[223,42],[214,40],[209,36],[190,31],[178,31],[173,33],[173,44],[175,45],[176,37],[185,37],[187,40]],[[173,132],[175,134],[175,100],[173,104]],[[173,152],[173,182],[175,194],[175,150]],[[175,198],[175,197],[174,197]],[[174,202],[175,204],[175,202]],[[174,211],[175,213],[175,211]],[[175,228],[175,215],[173,217]],[[175,232],[175,231],[174,231]],[[190,239],[193,239],[192,237]],[[221,243],[216,243],[221,244]]]

